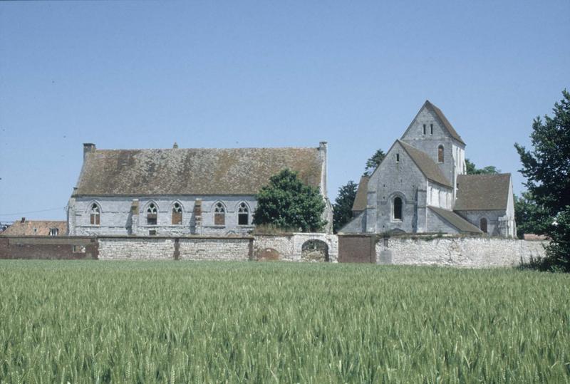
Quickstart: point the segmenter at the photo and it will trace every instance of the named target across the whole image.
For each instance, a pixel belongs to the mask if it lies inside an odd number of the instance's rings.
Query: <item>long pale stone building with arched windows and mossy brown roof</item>
[[[70,235],[202,234],[250,232],[255,194],[289,168],[326,191],[326,142],[318,147],[98,150],[83,145],[83,167],[68,203]]]

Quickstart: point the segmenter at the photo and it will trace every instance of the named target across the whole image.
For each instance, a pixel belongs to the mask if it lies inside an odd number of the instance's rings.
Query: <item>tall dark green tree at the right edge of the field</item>
[[[551,238],[543,266],[570,271],[570,93],[562,91],[551,118],[537,117],[530,135],[532,150],[516,143],[527,189],[542,210]]]

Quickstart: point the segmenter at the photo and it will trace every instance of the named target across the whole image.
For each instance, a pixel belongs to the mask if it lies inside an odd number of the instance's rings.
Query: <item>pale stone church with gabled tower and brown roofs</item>
[[[515,237],[512,177],[467,175],[465,142],[426,100],[372,175],[363,176],[341,234]]]

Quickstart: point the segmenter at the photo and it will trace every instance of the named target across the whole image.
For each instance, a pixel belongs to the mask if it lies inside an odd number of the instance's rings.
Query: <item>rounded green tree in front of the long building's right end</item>
[[[254,224],[270,224],[282,229],[320,230],[325,202],[318,188],[305,185],[297,172],[282,170],[269,179],[257,194]]]

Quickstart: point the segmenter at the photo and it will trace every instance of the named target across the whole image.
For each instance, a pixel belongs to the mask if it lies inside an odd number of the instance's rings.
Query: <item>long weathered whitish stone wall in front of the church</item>
[[[544,256],[546,242],[517,239],[442,237],[404,239],[391,237],[388,247],[376,244],[380,264],[438,265],[487,268],[517,266],[522,261]]]

